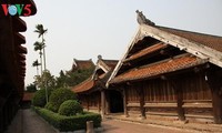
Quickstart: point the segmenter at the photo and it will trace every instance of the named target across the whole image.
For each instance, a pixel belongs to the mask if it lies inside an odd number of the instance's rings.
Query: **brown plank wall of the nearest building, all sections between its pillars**
[[[185,119],[212,120],[212,96],[204,73],[185,73],[176,75],[175,81],[182,90],[182,109]],[[143,89],[145,114],[178,116],[178,92],[170,80],[148,80],[125,88],[127,110],[129,115],[140,114],[140,95],[138,90]]]

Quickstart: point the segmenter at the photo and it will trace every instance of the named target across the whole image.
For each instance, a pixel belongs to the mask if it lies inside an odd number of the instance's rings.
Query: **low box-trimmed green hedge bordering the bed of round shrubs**
[[[33,109],[39,115],[41,115],[46,121],[48,121],[60,132],[85,130],[87,121],[93,121],[94,127],[101,126],[100,114],[84,112],[83,114],[80,115],[65,116],[65,115],[59,115],[58,113],[54,113],[52,111],[42,108],[33,108]]]

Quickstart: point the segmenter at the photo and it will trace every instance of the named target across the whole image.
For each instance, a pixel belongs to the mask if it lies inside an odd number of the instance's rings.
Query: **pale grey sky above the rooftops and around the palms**
[[[33,51],[38,41],[36,24],[48,29],[46,34],[47,69],[58,76],[70,70],[73,58],[119,60],[139,24],[135,10],[142,10],[158,25],[222,37],[221,0],[34,0],[38,12],[23,18],[28,30],[26,84],[34,81],[39,59]]]

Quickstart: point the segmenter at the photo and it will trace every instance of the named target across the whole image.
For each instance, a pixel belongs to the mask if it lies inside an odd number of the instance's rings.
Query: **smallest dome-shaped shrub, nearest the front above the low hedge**
[[[82,106],[77,100],[68,100],[64,101],[59,108],[60,115],[77,115],[78,113],[81,114],[83,112]]]

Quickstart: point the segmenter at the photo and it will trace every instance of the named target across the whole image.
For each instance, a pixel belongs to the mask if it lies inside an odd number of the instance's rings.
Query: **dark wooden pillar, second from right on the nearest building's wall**
[[[183,105],[183,90],[181,88],[180,81],[176,81],[175,79],[170,80],[170,84],[175,91],[176,94],[176,104],[178,104],[178,117],[180,121],[185,121],[185,115],[184,115],[184,109],[182,108]]]

